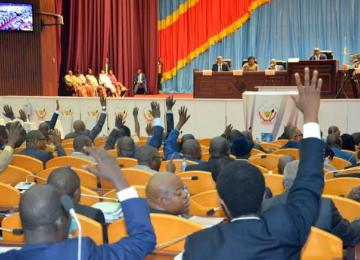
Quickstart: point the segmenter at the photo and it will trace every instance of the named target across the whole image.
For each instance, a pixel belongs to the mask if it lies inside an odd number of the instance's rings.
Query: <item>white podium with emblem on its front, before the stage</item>
[[[276,140],[288,124],[301,129],[303,117],[290,97],[297,94],[297,91],[244,92],[245,129],[263,142]]]

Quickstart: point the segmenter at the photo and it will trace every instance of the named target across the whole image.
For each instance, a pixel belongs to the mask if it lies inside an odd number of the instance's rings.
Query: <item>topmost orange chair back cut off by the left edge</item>
[[[34,181],[32,173],[14,165],[8,165],[0,174],[0,182],[10,184],[11,186],[15,186],[22,181]]]

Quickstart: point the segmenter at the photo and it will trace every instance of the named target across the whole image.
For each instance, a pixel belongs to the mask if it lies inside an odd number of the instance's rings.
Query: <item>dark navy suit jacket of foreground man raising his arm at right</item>
[[[302,141],[299,174],[286,205],[190,235],[183,259],[299,259],[317,218],[324,186],[323,142]]]

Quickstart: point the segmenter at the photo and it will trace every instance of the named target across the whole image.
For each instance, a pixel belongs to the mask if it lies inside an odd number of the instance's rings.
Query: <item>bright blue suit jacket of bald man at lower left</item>
[[[129,199],[121,203],[129,236],[114,244],[96,244],[88,237],[82,240],[81,259],[144,259],[156,242],[148,207],[143,199]],[[0,260],[63,260],[77,259],[77,238],[53,244],[28,244],[21,250],[0,255]]]

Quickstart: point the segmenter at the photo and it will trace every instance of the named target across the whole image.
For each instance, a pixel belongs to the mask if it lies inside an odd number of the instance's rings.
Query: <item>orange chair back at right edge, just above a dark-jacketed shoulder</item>
[[[360,218],[359,202],[334,195],[323,195],[323,197],[331,199],[334,202],[338,211],[340,212],[341,216],[347,219],[349,222]]]

